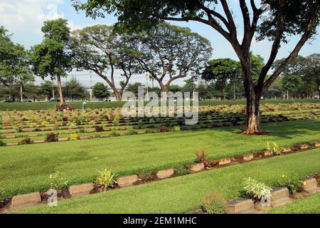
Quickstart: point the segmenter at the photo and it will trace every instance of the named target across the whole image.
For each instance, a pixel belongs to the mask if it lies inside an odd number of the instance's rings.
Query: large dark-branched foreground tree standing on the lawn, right
[[[159,21],[198,21],[218,31],[233,46],[240,59],[242,81],[247,98],[246,125],[244,134],[261,134],[260,98],[262,93],[282,73],[284,68],[298,56],[304,43],[316,33],[320,19],[319,0],[239,0],[242,25],[235,22],[234,10],[227,0],[87,0],[74,1],[76,9],[85,10],[88,16],[105,16],[115,13],[117,27],[122,29],[150,28]],[[269,18],[260,20],[270,6]],[[242,37],[239,41],[238,37]],[[267,38],[272,42],[270,57],[260,71],[257,81],[250,72],[250,48],[253,38]],[[267,73],[277,57],[280,46],[289,36],[299,36],[297,45],[286,60],[270,76]]]

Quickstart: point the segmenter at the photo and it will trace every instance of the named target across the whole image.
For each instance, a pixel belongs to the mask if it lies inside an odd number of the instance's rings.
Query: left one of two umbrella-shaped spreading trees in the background
[[[112,26],[98,24],[73,31],[69,48],[73,64],[78,70],[89,70],[103,78],[113,90],[117,100],[122,100],[124,89],[134,73],[140,73],[135,53]],[[115,71],[121,72],[119,89]]]

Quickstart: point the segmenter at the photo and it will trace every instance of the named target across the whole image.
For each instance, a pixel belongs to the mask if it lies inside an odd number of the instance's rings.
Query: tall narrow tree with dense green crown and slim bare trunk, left
[[[70,28],[65,19],[45,21],[41,28],[43,41],[31,48],[31,65],[33,72],[41,78],[56,79],[60,96],[60,105],[63,105],[63,90],[61,77],[67,76],[72,70],[67,43]]]

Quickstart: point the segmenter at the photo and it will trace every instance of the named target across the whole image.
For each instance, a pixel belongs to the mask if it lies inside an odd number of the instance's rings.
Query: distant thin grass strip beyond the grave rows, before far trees
[[[319,99],[313,100],[262,100],[262,103],[318,103]],[[86,108],[121,108],[124,101],[112,102],[87,102]],[[200,100],[199,105],[245,105],[245,100]],[[58,103],[0,103],[0,110],[39,110],[54,108]],[[82,102],[70,102],[74,108],[81,108]]]

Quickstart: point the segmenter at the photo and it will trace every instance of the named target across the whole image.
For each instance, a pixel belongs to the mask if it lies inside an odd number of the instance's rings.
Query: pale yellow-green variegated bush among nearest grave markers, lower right
[[[244,182],[244,190],[248,196],[259,201],[262,197],[272,197],[272,188],[265,185],[265,183],[257,182],[252,178],[247,178]]]

